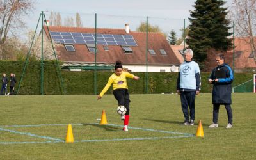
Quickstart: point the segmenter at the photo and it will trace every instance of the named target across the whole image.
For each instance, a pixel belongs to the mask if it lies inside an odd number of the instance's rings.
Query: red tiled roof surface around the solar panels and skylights
[[[45,30],[47,28],[45,27]],[[75,28],[62,26],[49,26],[50,31],[77,32],[77,33],[95,33],[95,28]],[[97,33],[126,35],[125,29],[106,29],[97,28]],[[48,33],[46,32],[47,36]],[[129,35],[134,37],[138,46],[131,46],[132,54],[125,54],[120,45],[108,45],[109,51],[105,51],[103,45],[97,45],[98,63],[115,63],[116,60],[123,64],[145,64],[146,63],[146,33],[130,31]],[[94,53],[89,52],[84,44],[74,44],[76,52],[67,52],[64,45],[57,47],[58,58],[61,61],[69,62],[94,62]],[[179,65],[180,61],[175,56],[166,38],[161,33],[148,33],[148,49],[154,49],[156,55],[148,52],[148,65]],[[159,49],[164,49],[167,55],[162,55]]]

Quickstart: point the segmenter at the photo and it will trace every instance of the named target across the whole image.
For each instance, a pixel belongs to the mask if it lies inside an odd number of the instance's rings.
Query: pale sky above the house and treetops
[[[226,7],[232,0],[227,0]],[[35,30],[41,11],[46,19],[50,12],[59,12],[62,21],[67,17],[75,19],[76,12],[81,16],[84,27],[124,28],[128,23],[135,31],[141,22],[157,25],[164,33],[175,30],[181,36],[180,28],[189,25],[189,10],[194,10],[195,0],[37,0],[33,14],[25,18],[28,29]]]

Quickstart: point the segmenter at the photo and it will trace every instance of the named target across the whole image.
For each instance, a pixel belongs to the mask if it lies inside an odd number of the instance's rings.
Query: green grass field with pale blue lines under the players
[[[256,95],[232,95],[234,127],[212,123],[211,94],[196,97],[196,122],[184,120],[178,95],[131,95],[129,132],[122,131],[116,100],[105,95],[0,97],[0,159],[256,159]],[[99,125],[102,110],[109,125]],[[75,143],[65,143],[72,124]]]

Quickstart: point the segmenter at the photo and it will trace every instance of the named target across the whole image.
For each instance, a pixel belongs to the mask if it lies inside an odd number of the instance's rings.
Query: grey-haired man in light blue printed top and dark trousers
[[[200,93],[200,69],[198,63],[192,60],[192,49],[186,49],[184,56],[185,61],[180,65],[177,79],[177,93],[180,95],[181,107],[185,118],[183,125],[194,125],[195,98]]]

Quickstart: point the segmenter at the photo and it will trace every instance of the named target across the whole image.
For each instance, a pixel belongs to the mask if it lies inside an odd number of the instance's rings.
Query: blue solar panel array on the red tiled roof
[[[95,33],[50,31],[52,40],[61,44],[95,44]],[[132,35],[97,34],[98,45],[138,46]]]

